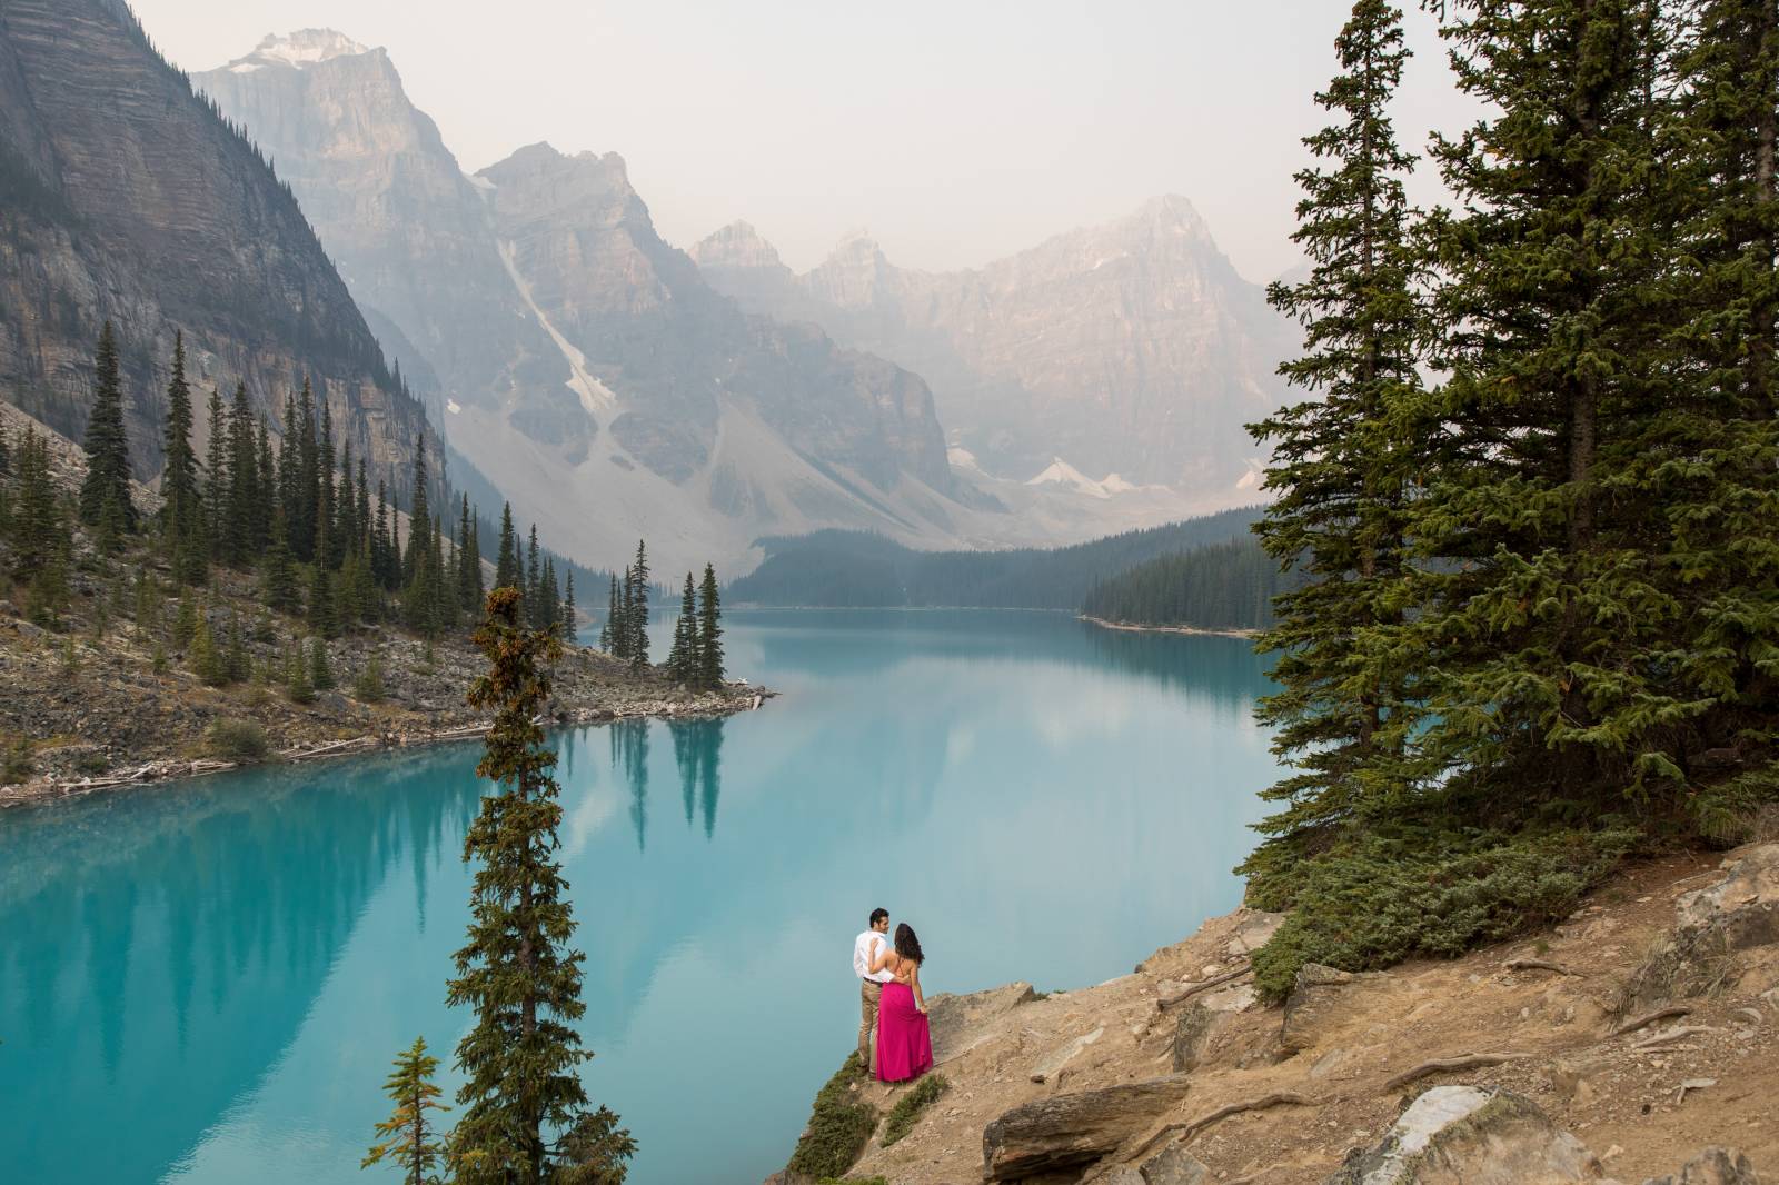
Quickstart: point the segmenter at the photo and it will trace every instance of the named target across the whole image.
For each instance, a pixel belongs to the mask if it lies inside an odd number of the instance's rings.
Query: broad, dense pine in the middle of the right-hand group
[[[1510,806],[1498,822],[1649,792],[1695,710],[1665,674],[1681,605],[1640,477],[1674,423],[1649,16],[1464,0],[1443,28],[1493,114],[1434,141],[1462,203],[1432,222],[1450,379],[1429,400],[1441,447],[1404,532],[1429,562],[1395,644],[1437,673],[1413,781]]]

